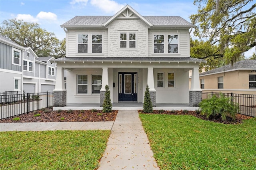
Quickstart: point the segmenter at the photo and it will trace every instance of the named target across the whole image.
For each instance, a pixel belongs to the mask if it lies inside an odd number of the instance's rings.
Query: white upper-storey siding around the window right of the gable
[[[179,35],[179,53],[154,54],[154,34],[170,33]],[[148,31],[148,56],[149,57],[190,57],[190,35],[189,29],[149,29]]]

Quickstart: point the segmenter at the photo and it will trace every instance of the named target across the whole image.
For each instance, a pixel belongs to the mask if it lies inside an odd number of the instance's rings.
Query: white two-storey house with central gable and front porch
[[[146,85],[153,106],[197,106],[201,100],[198,65],[206,61],[190,57],[194,25],[183,18],[141,16],[126,5],[114,16],[76,16],[61,27],[66,32],[66,57],[53,60],[57,63],[55,107],[102,105],[105,85],[113,103],[142,103]]]

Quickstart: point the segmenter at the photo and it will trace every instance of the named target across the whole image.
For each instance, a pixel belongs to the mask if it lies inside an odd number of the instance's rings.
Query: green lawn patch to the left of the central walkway
[[[0,132],[0,169],[93,170],[110,130]]]

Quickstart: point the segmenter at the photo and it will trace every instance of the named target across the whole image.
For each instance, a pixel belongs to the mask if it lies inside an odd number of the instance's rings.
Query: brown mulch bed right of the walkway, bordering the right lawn
[[[139,113],[144,113],[142,110],[138,111]],[[158,110],[154,110],[154,113],[144,113],[144,114],[166,114],[166,115],[192,115],[194,117],[198,117],[199,119],[206,120],[206,121],[212,121],[216,123],[224,123],[224,124],[240,124],[243,123],[243,120],[245,119],[250,119],[252,117],[246,116],[246,115],[241,115],[241,114],[236,114],[236,119],[233,120],[231,117],[227,116],[226,121],[223,121],[220,116],[218,117],[209,117],[207,118],[205,115],[200,115],[199,113],[196,113],[195,111],[164,111],[160,113]]]

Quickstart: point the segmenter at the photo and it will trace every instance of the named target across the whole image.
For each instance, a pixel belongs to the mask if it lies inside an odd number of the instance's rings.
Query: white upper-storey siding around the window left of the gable
[[[78,34],[102,34],[102,53],[77,53]],[[108,30],[107,29],[69,29],[66,33],[67,57],[107,57],[108,56]],[[88,44],[89,45],[89,44]]]

